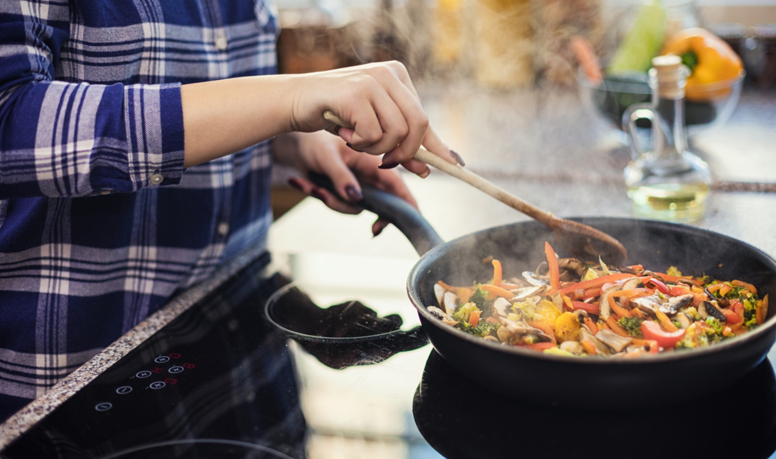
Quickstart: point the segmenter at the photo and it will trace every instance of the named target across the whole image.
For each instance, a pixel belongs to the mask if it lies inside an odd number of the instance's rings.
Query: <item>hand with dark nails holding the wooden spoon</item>
[[[428,126],[407,69],[400,62],[377,62],[296,76],[292,129],[312,132],[331,127],[331,110],[352,129],[338,134],[357,151],[382,155],[383,169],[399,164],[419,176],[428,166],[412,159],[421,144],[452,164],[458,162]]]

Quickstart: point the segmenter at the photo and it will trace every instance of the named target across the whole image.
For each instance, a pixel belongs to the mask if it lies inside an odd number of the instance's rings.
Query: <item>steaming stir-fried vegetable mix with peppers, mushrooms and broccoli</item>
[[[438,282],[443,322],[497,343],[563,356],[633,357],[733,339],[767,318],[768,295],[743,280],[683,276],[642,265],[606,266],[558,259],[545,243],[546,272],[505,279],[489,259],[487,283]],[[542,263],[544,265],[544,263]],[[537,285],[538,283],[538,285]]]

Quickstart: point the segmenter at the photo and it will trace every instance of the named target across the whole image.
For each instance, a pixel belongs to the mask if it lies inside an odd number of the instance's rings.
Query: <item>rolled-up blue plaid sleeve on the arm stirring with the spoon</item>
[[[179,183],[180,85],[57,81],[67,2],[0,2],[0,199]]]

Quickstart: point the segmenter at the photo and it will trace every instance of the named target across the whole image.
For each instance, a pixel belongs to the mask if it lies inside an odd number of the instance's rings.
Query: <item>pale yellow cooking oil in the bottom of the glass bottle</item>
[[[628,190],[634,214],[681,222],[702,217],[707,195],[706,183],[654,183]]]

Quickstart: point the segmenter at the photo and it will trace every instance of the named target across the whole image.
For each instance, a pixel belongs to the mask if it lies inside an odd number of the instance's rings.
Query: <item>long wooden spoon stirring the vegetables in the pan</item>
[[[352,126],[349,126],[348,123],[345,123],[345,120],[342,120],[330,110],[324,111],[324,119],[340,127],[352,129]],[[431,151],[421,148],[415,154],[415,159],[432,165],[436,169],[493,196],[509,207],[520,210],[528,217],[546,224],[547,227],[553,230],[553,236],[556,241],[574,256],[583,260],[596,260],[598,256],[601,256],[605,263],[615,266],[621,265],[628,257],[628,250],[625,249],[625,246],[605,232],[599,231],[587,224],[566,220],[566,218],[557,217],[546,210],[539,209],[539,207],[521,200],[518,196],[514,196],[514,194],[490,182],[490,180],[483,179],[483,177],[462,168],[460,165],[451,164],[445,161],[445,159],[434,155]]]

